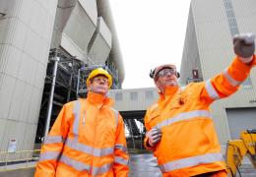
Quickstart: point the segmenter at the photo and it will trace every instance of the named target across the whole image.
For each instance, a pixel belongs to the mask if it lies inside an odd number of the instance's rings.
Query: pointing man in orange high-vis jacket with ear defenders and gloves
[[[222,74],[184,89],[174,65],[151,72],[160,99],[145,116],[145,147],[154,151],[163,176],[226,176],[210,105],[234,93],[248,77],[255,65],[254,35],[235,35],[233,46],[237,56]]]

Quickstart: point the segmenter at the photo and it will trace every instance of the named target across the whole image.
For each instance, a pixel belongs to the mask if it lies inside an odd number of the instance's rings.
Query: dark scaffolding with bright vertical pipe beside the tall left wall
[[[85,62],[64,49],[50,50],[35,143],[41,143],[63,104],[77,99],[78,70],[83,66]]]

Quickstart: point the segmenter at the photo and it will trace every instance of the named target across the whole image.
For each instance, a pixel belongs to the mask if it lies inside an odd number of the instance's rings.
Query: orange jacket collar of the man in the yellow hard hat
[[[87,94],[87,99],[91,104],[95,104],[96,106],[104,106],[113,105],[113,100],[110,97],[107,97],[106,95],[102,95],[96,92],[89,91]]]

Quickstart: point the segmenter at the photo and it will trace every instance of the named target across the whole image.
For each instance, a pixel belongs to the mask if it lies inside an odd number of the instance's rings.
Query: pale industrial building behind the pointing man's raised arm
[[[181,63],[180,84],[207,81],[224,72],[234,53],[232,36],[256,33],[253,0],[192,0]],[[256,128],[256,69],[240,89],[212,105],[219,138],[224,145],[239,133]]]

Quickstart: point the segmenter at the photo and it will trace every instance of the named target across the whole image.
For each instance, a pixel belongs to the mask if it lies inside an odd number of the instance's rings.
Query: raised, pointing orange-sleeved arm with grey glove
[[[237,55],[224,72],[205,83],[201,99],[212,103],[234,93],[248,77],[255,65],[255,42],[251,33],[238,34],[233,37],[233,49]]]

